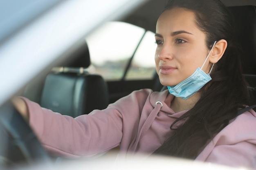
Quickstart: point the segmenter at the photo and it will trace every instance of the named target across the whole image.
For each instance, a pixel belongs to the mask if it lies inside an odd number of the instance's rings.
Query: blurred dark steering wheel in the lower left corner
[[[25,119],[10,103],[0,107],[0,165],[18,162],[51,163],[51,159]]]

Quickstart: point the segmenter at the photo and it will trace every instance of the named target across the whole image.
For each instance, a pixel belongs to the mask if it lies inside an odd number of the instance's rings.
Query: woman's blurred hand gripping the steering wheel
[[[29,113],[25,101],[22,98],[14,97],[11,99],[11,102],[13,103],[14,107],[18,110],[18,112],[20,112],[23,118],[25,118],[25,120],[28,120]]]

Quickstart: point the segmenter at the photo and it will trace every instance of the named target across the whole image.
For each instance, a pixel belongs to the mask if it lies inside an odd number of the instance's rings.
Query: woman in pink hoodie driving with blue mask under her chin
[[[219,0],[170,0],[156,25],[164,92],[142,89],[75,119],[13,100],[51,153],[165,154],[256,168],[256,113],[241,72],[231,14]],[[171,126],[171,128],[170,128]]]

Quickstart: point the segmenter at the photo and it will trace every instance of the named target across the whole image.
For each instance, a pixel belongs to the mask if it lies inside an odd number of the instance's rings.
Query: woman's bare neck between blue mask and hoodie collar
[[[171,101],[171,106],[170,108],[175,112],[180,112],[184,110],[189,110],[192,107],[195,106],[195,103],[198,102],[200,98],[200,93],[195,93],[193,96],[190,98],[184,100],[179,97],[174,97],[173,100]]]

